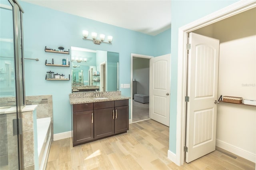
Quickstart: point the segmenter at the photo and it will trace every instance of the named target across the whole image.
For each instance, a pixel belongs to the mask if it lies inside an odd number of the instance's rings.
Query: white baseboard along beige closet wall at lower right
[[[242,158],[245,158],[247,160],[250,160],[252,162],[256,162],[256,154],[249,152],[247,150],[244,150],[242,148],[238,148],[237,146],[234,146],[232,144],[228,144],[222,140],[216,140],[216,146],[227,150],[228,152],[231,152],[233,154],[236,154]]]

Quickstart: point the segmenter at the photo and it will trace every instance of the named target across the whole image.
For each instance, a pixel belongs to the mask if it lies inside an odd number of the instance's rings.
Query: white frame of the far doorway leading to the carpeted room
[[[139,58],[147,58],[149,59],[149,69],[151,67],[151,58],[153,58],[153,56],[150,56],[150,55],[142,55],[142,54],[134,54],[134,53],[131,53],[131,85],[130,85],[130,89],[131,89],[131,92],[130,92],[130,96],[131,96],[131,119],[129,119],[129,124],[133,123],[132,122],[132,69],[133,69],[133,57],[139,57]],[[149,77],[150,77],[150,74],[149,74]],[[150,85],[149,85],[150,86]],[[150,88],[150,87],[149,87]],[[149,91],[149,97],[150,97],[150,91]],[[150,103],[149,103],[149,108],[150,108]],[[150,116],[150,115],[149,115]]]

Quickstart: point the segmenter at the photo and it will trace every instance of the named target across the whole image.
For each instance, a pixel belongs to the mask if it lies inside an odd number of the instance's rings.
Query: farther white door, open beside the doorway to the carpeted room
[[[150,61],[150,118],[169,126],[171,54]]]

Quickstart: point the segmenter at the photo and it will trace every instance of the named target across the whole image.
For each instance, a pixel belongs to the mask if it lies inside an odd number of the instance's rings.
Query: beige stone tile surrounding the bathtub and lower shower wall
[[[14,106],[14,109],[10,108],[9,110],[16,110],[15,97],[0,97],[0,106]],[[52,114],[52,95],[41,95],[41,96],[27,96],[26,105],[29,107],[31,105],[38,105],[36,108],[36,119],[50,117],[51,118],[51,138],[53,139],[53,114]],[[9,166],[9,169],[18,169],[16,165],[17,156],[18,156],[18,144],[16,136],[13,136],[12,132],[12,120],[16,119],[16,113],[13,111],[8,111],[6,113],[0,114],[0,165]],[[33,124],[32,112],[23,112],[22,113],[22,123],[23,123],[23,150],[24,150],[24,163],[26,169],[34,169],[34,165],[31,164],[34,161],[32,159],[32,148],[34,146],[30,140],[33,137],[33,132],[31,125]],[[32,138],[31,138],[32,137]],[[12,146],[12,147],[9,147]],[[34,147],[33,147],[34,150]],[[26,155],[26,156],[25,156]],[[34,155],[34,154],[33,154]],[[2,168],[0,168],[2,169]]]

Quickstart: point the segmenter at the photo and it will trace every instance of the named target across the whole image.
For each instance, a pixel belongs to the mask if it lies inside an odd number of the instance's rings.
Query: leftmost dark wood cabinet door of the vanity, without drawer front
[[[73,146],[94,139],[93,111],[73,113]]]

